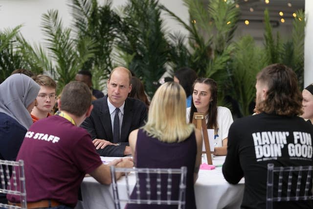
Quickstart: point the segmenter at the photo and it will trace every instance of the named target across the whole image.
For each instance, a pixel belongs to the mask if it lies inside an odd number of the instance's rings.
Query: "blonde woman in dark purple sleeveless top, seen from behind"
[[[201,164],[201,132],[185,120],[186,94],[175,82],[167,82],[156,91],[145,126],[131,132],[129,143],[136,167],[187,167],[186,209],[196,209],[194,183]],[[174,181],[178,191],[178,181]],[[174,186],[174,187],[175,187]],[[163,186],[162,186],[163,187]],[[144,189],[141,194],[145,194]],[[166,191],[166,188],[165,188]],[[163,191],[162,191],[163,193]],[[164,192],[166,195],[166,192]],[[155,192],[152,192],[152,196]],[[178,195],[173,194],[173,195]],[[135,197],[135,194],[132,194]],[[169,209],[175,206],[128,205],[127,209]],[[177,208],[177,206],[176,206]]]

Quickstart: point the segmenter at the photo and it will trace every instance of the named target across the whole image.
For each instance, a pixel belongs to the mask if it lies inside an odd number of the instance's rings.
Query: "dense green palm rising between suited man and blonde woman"
[[[166,71],[170,51],[160,12],[157,0],[129,0],[121,18],[121,33],[117,41],[118,49],[129,63],[128,68],[142,78],[150,96]]]

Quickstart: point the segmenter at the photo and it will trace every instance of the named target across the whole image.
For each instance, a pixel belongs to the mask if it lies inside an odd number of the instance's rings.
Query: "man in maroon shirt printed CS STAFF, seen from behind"
[[[74,208],[87,173],[101,184],[111,184],[110,167],[101,162],[89,133],[79,127],[93,108],[88,86],[77,81],[67,84],[58,105],[56,116],[30,127],[17,157],[25,164],[28,209]],[[133,166],[129,159],[112,164]],[[7,198],[13,205],[20,202],[18,196]]]

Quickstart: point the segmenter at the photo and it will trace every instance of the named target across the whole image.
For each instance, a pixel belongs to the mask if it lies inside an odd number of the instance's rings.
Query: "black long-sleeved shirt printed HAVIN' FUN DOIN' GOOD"
[[[266,208],[268,163],[275,166],[313,165],[311,136],[312,125],[297,116],[261,113],[240,118],[231,125],[223,174],[231,184],[237,184],[245,177],[242,208]],[[283,195],[286,195],[284,190]],[[284,206],[288,209],[300,208],[296,204],[274,203],[274,209]],[[301,207],[312,208],[312,202],[302,202]]]

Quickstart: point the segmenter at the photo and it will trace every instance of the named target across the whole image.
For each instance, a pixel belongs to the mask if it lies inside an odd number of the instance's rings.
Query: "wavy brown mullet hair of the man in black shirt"
[[[259,112],[280,116],[299,116],[302,111],[302,93],[296,74],[283,64],[265,67],[256,77],[268,87],[266,98],[256,104]]]

